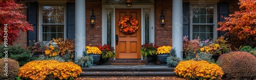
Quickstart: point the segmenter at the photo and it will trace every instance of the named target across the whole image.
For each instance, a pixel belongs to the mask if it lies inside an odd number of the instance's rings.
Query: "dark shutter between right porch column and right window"
[[[183,3],[183,36],[188,36],[189,39],[189,8],[190,3]]]

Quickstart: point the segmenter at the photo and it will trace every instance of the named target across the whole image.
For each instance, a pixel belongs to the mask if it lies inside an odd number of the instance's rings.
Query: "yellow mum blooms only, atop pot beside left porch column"
[[[94,46],[86,46],[86,52],[88,54],[101,55],[101,50],[98,47],[94,47]]]

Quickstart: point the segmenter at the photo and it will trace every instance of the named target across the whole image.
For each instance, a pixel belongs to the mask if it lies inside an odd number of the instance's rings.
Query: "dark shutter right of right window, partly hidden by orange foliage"
[[[224,21],[224,18],[221,18],[221,16],[228,17],[229,16],[229,4],[228,3],[218,3],[218,16],[219,16],[219,22]],[[218,31],[218,36],[223,36],[225,32]]]

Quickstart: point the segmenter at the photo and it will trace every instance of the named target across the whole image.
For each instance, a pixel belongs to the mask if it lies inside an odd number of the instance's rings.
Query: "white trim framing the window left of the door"
[[[39,3],[39,33],[38,33],[38,36],[39,36],[39,39],[38,40],[41,40],[42,41],[42,6],[45,6],[45,5],[64,5],[64,40],[67,38],[67,8],[66,8],[66,3],[67,1],[62,1],[62,2],[59,2],[59,1],[52,1],[52,2],[44,2],[44,1],[37,1]],[[61,23],[62,24],[62,23]]]

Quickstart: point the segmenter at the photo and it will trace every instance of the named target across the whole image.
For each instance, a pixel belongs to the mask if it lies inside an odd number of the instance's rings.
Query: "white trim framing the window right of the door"
[[[204,4],[200,4],[199,2],[191,2],[190,3],[190,10],[189,10],[189,39],[192,40],[193,39],[193,26],[192,26],[192,22],[193,22],[193,12],[192,12],[192,6],[193,5],[214,5],[214,39],[217,38],[217,2],[219,1],[215,1],[215,2],[205,2]],[[208,23],[207,23],[208,24]]]

